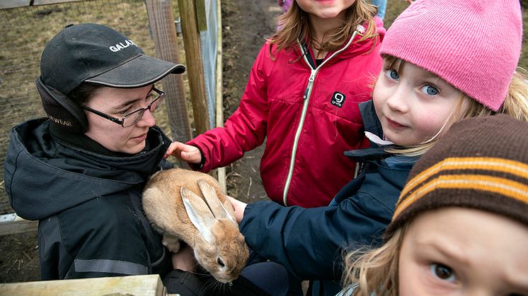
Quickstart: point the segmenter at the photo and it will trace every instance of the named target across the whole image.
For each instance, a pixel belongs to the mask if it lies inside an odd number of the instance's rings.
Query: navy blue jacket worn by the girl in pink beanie
[[[362,103],[360,109],[365,129],[381,136],[372,101]],[[345,153],[354,161],[365,162],[364,168],[329,206],[283,207],[260,201],[248,204],[244,211],[240,229],[248,246],[301,280],[325,280],[314,283],[313,295],[335,295],[341,290],[343,251],[381,244],[400,191],[417,160],[389,155],[373,146]]]

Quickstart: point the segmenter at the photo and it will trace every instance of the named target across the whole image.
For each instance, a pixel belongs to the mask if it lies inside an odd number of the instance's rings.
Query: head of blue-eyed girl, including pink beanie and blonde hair
[[[526,121],[527,85],[515,71],[521,42],[519,1],[415,1],[380,49],[374,107],[384,140],[420,154],[459,119]]]

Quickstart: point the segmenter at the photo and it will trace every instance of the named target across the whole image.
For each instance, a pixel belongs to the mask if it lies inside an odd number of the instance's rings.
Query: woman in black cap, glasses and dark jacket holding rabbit
[[[48,118],[12,129],[4,165],[11,206],[39,220],[43,280],[159,273],[169,292],[205,292],[184,272],[195,267],[190,250],[188,261],[171,256],[142,211],[151,174],[172,167],[151,114],[165,97],[154,83],[184,71],[93,23],[46,45],[36,84]],[[244,278],[232,287],[260,291]]]

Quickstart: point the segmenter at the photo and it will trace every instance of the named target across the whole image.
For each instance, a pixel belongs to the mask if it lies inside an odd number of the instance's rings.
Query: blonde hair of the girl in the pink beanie
[[[398,67],[399,73],[401,73],[403,69],[403,64],[406,63],[406,61],[388,55],[384,56],[384,60],[386,61],[389,67],[393,67],[397,61],[401,61]],[[524,71],[524,69],[517,68],[517,71],[514,73],[514,75],[512,76],[512,80],[510,81],[510,87],[505,97],[505,101],[496,112],[482,105],[480,102],[477,102],[476,100],[472,99],[468,95],[461,93],[459,100],[457,100],[457,102],[452,108],[452,112],[449,114],[443,126],[434,136],[428,138],[421,144],[415,146],[387,148],[386,152],[406,156],[423,155],[423,153],[427,152],[427,150],[429,150],[432,146],[435,145],[435,142],[440,138],[442,132],[445,129],[445,126],[447,126],[450,121],[454,123],[458,122],[461,119],[466,119],[470,117],[481,117],[500,113],[509,114],[515,119],[519,119],[523,122],[528,122],[527,77],[527,72]]]

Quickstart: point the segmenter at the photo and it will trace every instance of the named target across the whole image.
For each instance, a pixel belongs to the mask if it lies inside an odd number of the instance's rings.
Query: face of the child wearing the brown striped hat
[[[528,295],[528,227],[503,215],[442,208],[418,215],[398,264],[398,295]]]

